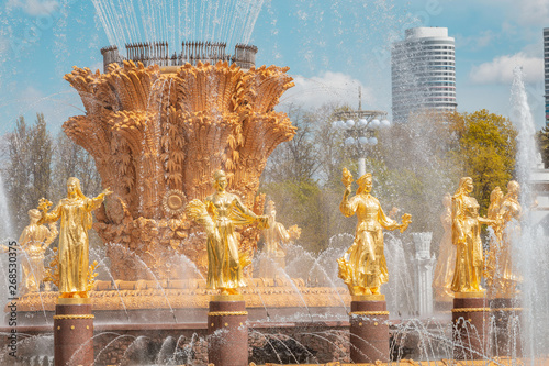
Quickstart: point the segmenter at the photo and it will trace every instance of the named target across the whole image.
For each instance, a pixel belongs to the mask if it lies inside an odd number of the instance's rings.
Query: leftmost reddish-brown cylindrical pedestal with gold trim
[[[93,365],[93,315],[89,299],[58,299],[54,315],[56,366]]]

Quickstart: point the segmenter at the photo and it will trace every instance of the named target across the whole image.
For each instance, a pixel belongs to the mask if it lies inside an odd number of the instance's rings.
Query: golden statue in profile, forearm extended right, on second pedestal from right
[[[451,241],[457,245],[456,269],[451,282],[453,292],[481,292],[483,253],[480,237],[481,224],[494,224],[494,220],[479,217],[479,203],[469,193],[473,179],[463,177],[452,197]]]

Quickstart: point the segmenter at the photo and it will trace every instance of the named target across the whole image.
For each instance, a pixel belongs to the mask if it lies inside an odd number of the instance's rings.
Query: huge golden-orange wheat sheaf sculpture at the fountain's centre
[[[229,175],[228,190],[262,211],[259,176],[272,151],[295,134],[273,110],[293,86],[288,69],[199,63],[168,74],[124,62],[104,74],[75,67],[65,76],[86,115],[70,118],[64,130],[114,191],[94,228],[104,242],[120,244],[108,249],[116,279],[177,277],[183,268],[175,254],[204,267],[205,237],[182,207],[213,192],[220,168]],[[240,235],[240,249],[250,252],[257,230]]]

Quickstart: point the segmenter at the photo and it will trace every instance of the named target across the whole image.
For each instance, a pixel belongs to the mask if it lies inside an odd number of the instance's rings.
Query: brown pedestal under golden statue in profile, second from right
[[[452,309],[453,358],[483,359],[490,308],[484,292],[456,292]]]

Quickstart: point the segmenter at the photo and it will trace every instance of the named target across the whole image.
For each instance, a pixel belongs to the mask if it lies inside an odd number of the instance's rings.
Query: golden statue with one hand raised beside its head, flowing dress
[[[402,233],[412,222],[412,217],[403,214],[402,224],[399,224],[383,213],[378,199],[370,195],[372,189],[370,173],[358,178],[357,193],[349,199],[351,182],[352,176],[344,168],[345,193],[339,210],[347,218],[356,213],[358,223],[355,242],[344,256],[337,259],[339,277],[354,296],[379,295],[380,286],[389,280],[382,230],[400,229]]]

